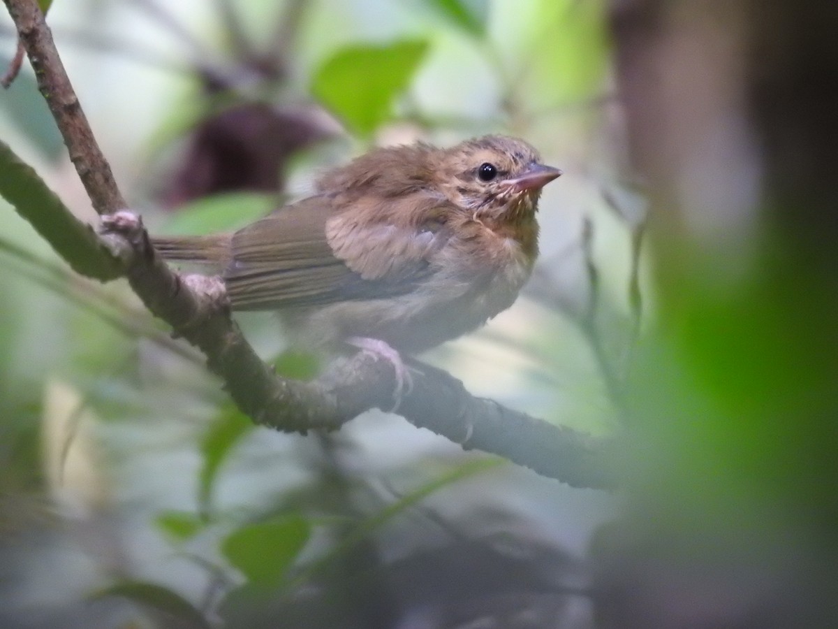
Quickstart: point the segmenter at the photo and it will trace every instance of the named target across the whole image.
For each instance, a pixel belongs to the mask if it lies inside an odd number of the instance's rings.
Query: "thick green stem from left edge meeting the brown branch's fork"
[[[38,231],[76,273],[101,280],[121,274],[120,264],[96,237],[49,190],[44,180],[0,141],[0,196]]]

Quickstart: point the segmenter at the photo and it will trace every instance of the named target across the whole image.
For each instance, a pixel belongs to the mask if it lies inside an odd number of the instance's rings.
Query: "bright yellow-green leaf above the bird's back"
[[[424,40],[347,46],[320,66],[313,94],[355,131],[372,133],[391,117],[393,101],[410,85],[427,48]]]

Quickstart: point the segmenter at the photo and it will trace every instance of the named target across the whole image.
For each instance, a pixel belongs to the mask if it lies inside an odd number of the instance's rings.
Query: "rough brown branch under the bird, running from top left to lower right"
[[[105,215],[101,240],[88,246],[92,251],[106,244],[147,309],[204,352],[209,369],[221,377],[238,407],[258,424],[302,433],[337,429],[365,410],[389,408],[395,374],[385,361],[361,353],[334,365],[315,382],[277,377],[230,318],[220,278],[181,276],[168,268],[152,247],[142,221],[123,209],[125,201],[37,4],[34,0],[3,2],[65,138],[70,159],[96,211]],[[0,186],[0,194],[8,198],[7,193]],[[28,202],[23,197],[13,205],[28,216],[28,208],[20,206]],[[42,235],[55,246],[54,232],[42,231]],[[613,452],[608,441],[474,398],[462,382],[431,366],[422,365],[413,380],[413,391],[400,408],[412,424],[442,434],[466,449],[493,452],[574,486],[616,484],[607,465]]]

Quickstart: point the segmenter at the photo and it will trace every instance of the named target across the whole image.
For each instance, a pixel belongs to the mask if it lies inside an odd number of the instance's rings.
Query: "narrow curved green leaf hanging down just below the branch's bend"
[[[208,519],[212,513],[212,491],[221,464],[235,444],[254,429],[246,418],[231,403],[223,408],[200,442],[203,465],[198,478],[198,503],[201,516]]]

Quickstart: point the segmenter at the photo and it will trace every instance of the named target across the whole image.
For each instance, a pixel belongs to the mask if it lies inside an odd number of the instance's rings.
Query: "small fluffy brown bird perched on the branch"
[[[169,259],[216,265],[233,309],[279,310],[297,345],[361,347],[402,378],[398,352],[515,301],[538,253],[541,188],[560,174],[504,136],[376,148],[240,231],[153,242]]]

